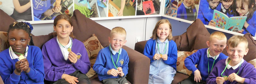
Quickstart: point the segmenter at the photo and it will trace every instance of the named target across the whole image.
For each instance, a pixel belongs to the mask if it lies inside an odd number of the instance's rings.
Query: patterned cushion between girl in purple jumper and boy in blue
[[[101,44],[100,44],[98,38],[95,36],[95,34],[93,34],[92,37],[88,38],[87,40],[83,41],[83,44],[85,45],[89,60],[91,62],[91,69],[86,74],[86,76],[88,76],[90,78],[96,74],[96,72],[93,70],[92,67],[96,61],[99,51],[101,49],[103,49],[104,47],[101,46]]]

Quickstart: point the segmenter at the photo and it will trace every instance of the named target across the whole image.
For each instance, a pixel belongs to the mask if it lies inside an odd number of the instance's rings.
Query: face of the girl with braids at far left
[[[8,41],[14,52],[24,54],[30,37],[23,29],[10,30]]]

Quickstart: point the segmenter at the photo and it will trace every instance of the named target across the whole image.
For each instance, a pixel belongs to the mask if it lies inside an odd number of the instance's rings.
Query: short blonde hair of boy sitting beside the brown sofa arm
[[[126,39],[126,31],[123,27],[114,27],[110,32],[110,37],[112,37],[113,34],[120,34],[124,36],[124,40]]]

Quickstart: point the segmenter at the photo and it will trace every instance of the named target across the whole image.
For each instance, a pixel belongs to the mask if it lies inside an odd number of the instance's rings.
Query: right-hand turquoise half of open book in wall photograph
[[[226,30],[233,32],[238,32],[239,30],[242,30],[246,18],[246,16],[230,17]]]

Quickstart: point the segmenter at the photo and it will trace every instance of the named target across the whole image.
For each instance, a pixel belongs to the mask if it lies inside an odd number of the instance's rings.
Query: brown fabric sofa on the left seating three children
[[[7,16],[2,16],[3,11],[0,10],[0,17],[8,17],[5,19],[12,19]],[[110,34],[110,29],[94,22],[93,20],[85,17],[80,11],[75,10],[74,15],[71,18],[73,22],[73,33],[76,39],[82,41],[85,41],[86,39],[90,38],[92,34],[95,34],[101,45],[103,47],[107,47],[109,45],[108,43],[108,36]],[[7,32],[7,29],[9,26],[2,26],[2,25],[10,25],[10,23],[14,22],[9,21],[6,24],[1,24],[1,30],[3,32]],[[2,29],[4,28],[4,29]],[[53,38],[53,33],[50,33],[48,35],[41,35],[41,36],[34,36],[33,41],[35,46],[42,48],[43,44]],[[129,56],[129,70],[126,79],[131,84],[147,84],[148,83],[148,76],[149,76],[149,66],[150,66],[150,59],[146,57],[145,55],[127,47],[123,46],[123,49],[125,49]],[[91,84],[102,84],[99,79],[98,75],[95,75],[90,78]],[[2,84],[2,78],[0,78],[0,84]]]

